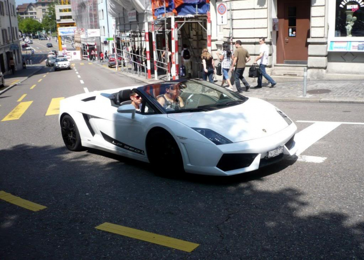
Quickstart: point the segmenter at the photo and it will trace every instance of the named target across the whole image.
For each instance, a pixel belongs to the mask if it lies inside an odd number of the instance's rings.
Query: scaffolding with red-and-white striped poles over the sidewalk
[[[165,4],[165,2],[164,2]],[[146,3],[147,5],[147,3]],[[165,5],[164,8],[166,9]],[[116,57],[121,57],[121,69],[127,73],[136,73],[141,76],[142,70],[144,70],[145,77],[151,79],[150,62],[153,61],[154,79],[158,79],[158,69],[165,71],[167,80],[176,80],[179,78],[179,46],[182,48],[182,39],[179,38],[179,32],[181,35],[184,24],[196,23],[200,26],[196,29],[196,35],[199,37],[199,32],[206,32],[207,35],[207,49],[211,53],[211,19],[210,12],[207,15],[199,15],[196,6],[196,15],[175,16],[174,13],[165,13],[163,17],[153,19],[152,21],[145,21],[144,28],[139,29],[138,17],[135,22],[126,22],[126,15],[124,8],[122,8],[122,16],[118,16],[116,19],[116,28],[119,30],[115,32],[115,53]],[[147,10],[145,15],[148,16]],[[132,24],[137,24],[137,29],[132,30]],[[123,28],[120,29],[120,28]],[[184,30],[185,31],[185,30]],[[152,42],[150,45],[150,35]],[[164,35],[164,39],[158,39],[158,35]],[[170,36],[170,43],[169,43]],[[179,44],[179,40],[181,44]],[[188,40],[188,38],[187,38]],[[164,43],[163,43],[164,41]],[[194,53],[193,46],[189,42],[189,47]],[[158,44],[160,43],[160,44]],[[197,41],[199,45],[199,41]],[[162,46],[161,46],[162,45]],[[163,46],[164,45],[164,46]],[[151,48],[150,48],[151,47]],[[162,47],[162,48],[161,48]],[[153,51],[153,55],[150,55],[150,49]],[[195,55],[195,64],[199,66],[199,55]],[[129,69],[129,65],[131,68]],[[126,68],[124,68],[126,67]],[[118,69],[118,62],[116,62],[116,69]],[[130,71],[131,70],[131,71]]]

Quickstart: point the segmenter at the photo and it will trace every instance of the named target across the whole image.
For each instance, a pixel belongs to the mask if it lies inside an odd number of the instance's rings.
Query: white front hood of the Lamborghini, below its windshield
[[[270,136],[288,126],[275,106],[256,98],[208,112],[172,113],[168,118],[189,127],[211,129],[232,142]]]

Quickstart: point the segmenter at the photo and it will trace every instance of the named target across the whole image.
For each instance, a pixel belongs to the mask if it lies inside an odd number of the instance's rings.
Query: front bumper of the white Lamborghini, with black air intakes
[[[294,141],[297,126],[292,123],[278,133],[265,138],[225,145],[196,141],[181,142],[184,170],[206,175],[234,175],[247,173],[293,156],[298,147]],[[268,152],[283,147],[283,154],[268,158]]]

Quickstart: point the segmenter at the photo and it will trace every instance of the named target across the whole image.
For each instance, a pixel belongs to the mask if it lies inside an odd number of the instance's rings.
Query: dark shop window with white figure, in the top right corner
[[[364,2],[336,0],[335,37],[364,37]]]

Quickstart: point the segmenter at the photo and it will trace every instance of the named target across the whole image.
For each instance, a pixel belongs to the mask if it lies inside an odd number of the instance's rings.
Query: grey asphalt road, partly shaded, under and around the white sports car
[[[0,200],[1,259],[364,259],[363,105],[274,103],[298,131],[314,124],[300,121],[354,124],[258,171],[165,178],[146,163],[65,148],[58,115],[46,116],[53,98],[142,85],[72,63],[77,70],[45,67],[0,96],[0,120],[24,94],[21,102],[33,101],[19,119],[0,121],[0,191],[47,207]],[[105,222],[199,246],[189,253],[95,228]]]

